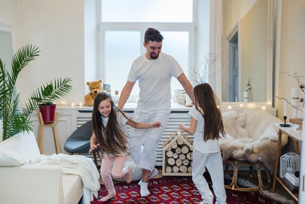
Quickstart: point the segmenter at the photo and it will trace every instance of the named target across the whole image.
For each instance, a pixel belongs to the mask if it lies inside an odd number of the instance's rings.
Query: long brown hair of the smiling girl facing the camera
[[[100,114],[98,110],[98,106],[100,102],[107,99],[111,103],[111,112],[109,114],[108,122],[106,126],[104,126],[102,122],[102,114]],[[125,135],[124,131],[121,130],[120,125],[117,121],[117,117],[116,117],[117,112],[122,113],[122,115],[126,119],[131,120],[114,104],[109,94],[107,93],[97,94],[94,101],[93,112],[92,112],[92,125],[93,125],[93,131],[95,133],[95,137],[97,139],[97,143],[99,143],[102,156],[105,155],[117,156],[122,152],[127,153],[129,149],[127,136]],[[134,122],[133,120],[131,121]]]

